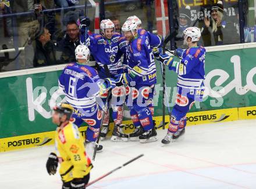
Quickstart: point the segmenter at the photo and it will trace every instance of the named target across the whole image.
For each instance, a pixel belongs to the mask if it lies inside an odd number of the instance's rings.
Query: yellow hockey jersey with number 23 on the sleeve
[[[59,174],[64,182],[86,176],[93,165],[86,155],[84,139],[76,125],[69,122],[55,135],[56,155],[61,165]]]

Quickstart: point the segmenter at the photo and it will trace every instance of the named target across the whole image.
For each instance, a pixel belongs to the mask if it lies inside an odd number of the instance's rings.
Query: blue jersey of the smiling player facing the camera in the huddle
[[[101,78],[106,78],[104,64],[108,66],[109,72],[113,76],[123,72],[121,61],[123,52],[119,50],[119,45],[126,45],[126,41],[120,41],[121,37],[118,33],[115,33],[111,39],[106,39],[101,34],[93,34],[87,39],[87,46],[100,67]]]

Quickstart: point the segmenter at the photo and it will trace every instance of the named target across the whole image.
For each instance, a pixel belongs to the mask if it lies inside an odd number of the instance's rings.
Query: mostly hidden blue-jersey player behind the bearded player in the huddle
[[[150,48],[152,49],[152,53],[154,54],[155,58],[159,58],[159,48],[162,46],[162,36],[161,35],[154,35],[151,32],[148,32],[142,28],[141,20],[137,16],[129,16],[127,20],[133,21],[137,24],[137,32],[138,35],[148,38],[150,43]],[[148,108],[151,111],[151,115],[154,116],[154,106],[153,104],[149,104]],[[138,122],[139,125],[139,122]],[[138,126],[136,125],[136,126]]]

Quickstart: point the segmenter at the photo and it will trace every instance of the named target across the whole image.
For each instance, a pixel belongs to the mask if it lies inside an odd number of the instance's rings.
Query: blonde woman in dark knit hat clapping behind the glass
[[[227,45],[233,43],[239,43],[239,35],[237,34],[234,24],[225,20],[226,12],[223,12],[222,1],[218,1],[211,8],[211,19],[204,18],[204,27],[202,28],[202,36],[208,36],[208,33],[213,34],[214,43],[212,45]],[[209,29],[211,31],[209,31]],[[205,39],[207,41],[209,39]]]

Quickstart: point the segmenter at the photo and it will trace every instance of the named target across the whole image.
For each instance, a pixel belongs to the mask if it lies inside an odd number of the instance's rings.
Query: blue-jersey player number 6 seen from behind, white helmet
[[[102,113],[98,109],[101,101],[97,96],[116,85],[115,80],[111,78],[100,79],[98,72],[86,65],[90,56],[87,46],[77,46],[75,54],[77,61],[67,64],[64,68],[59,77],[59,87],[65,93],[67,103],[74,108],[73,123],[77,126],[83,122],[88,124],[86,148],[92,157],[102,119]]]

